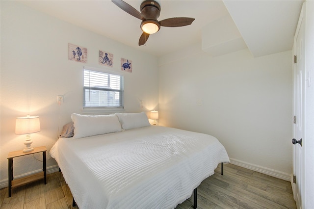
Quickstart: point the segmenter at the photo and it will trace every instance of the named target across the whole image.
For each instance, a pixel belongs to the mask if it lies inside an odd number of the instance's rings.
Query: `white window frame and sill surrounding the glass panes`
[[[119,76],[120,77],[120,89],[109,89],[109,88],[100,88],[100,87],[90,87],[90,86],[84,86],[84,79],[85,79],[85,70],[86,71],[92,71],[100,74],[108,74],[113,76]],[[119,92],[119,106],[85,106],[85,90],[89,90],[90,92],[93,90],[96,91],[107,91],[107,92]],[[83,68],[83,109],[82,112],[84,113],[100,113],[100,112],[107,112],[111,110],[111,112],[121,112],[124,111],[124,76],[121,73],[117,73],[114,71],[104,70],[104,69],[98,69],[98,68],[91,68],[84,66]],[[119,111],[120,110],[120,111]]]

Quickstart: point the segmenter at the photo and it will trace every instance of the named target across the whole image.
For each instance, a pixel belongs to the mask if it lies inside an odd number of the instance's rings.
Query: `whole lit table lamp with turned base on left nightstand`
[[[25,149],[23,152],[26,153],[34,150],[34,148],[30,147],[31,143],[33,142],[30,139],[30,134],[38,131],[40,131],[40,122],[38,116],[27,115],[26,117],[16,118],[15,134],[26,134],[26,139],[24,142]]]

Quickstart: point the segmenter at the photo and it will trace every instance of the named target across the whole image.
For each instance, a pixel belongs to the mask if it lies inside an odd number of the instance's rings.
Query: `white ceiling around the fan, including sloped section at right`
[[[125,0],[139,11],[141,0]],[[141,20],[110,0],[23,0],[22,3],[71,24],[156,56],[202,43],[202,28],[231,15],[254,56],[292,49],[302,0],[158,0],[160,17],[193,17],[190,26],[161,27],[138,46]],[[213,31],[213,33],[222,31]],[[210,31],[209,31],[210,32]],[[223,36],[223,34],[222,34]],[[211,40],[214,42],[215,40]],[[220,43],[217,43],[220,44]],[[226,47],[225,45],[222,47]],[[224,50],[226,51],[226,50]]]

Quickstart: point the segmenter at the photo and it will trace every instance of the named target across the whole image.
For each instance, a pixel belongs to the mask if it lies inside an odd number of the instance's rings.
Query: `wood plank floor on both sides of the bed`
[[[56,172],[43,181],[1,189],[1,209],[73,209],[72,194],[62,173]],[[193,195],[177,209],[192,209]],[[215,174],[197,189],[198,209],[296,209],[291,184],[232,164],[220,165]],[[78,207],[74,207],[77,209]]]

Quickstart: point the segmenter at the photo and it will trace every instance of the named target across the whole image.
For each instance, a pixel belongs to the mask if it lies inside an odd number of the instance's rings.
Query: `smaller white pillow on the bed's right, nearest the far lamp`
[[[121,126],[124,130],[136,129],[141,127],[150,126],[147,115],[145,112],[141,113],[116,113]]]

